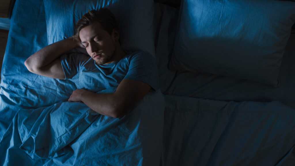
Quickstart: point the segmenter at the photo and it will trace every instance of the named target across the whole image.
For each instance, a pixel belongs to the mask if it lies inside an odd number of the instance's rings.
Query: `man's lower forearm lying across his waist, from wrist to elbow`
[[[111,116],[117,118],[119,101],[116,99],[113,93],[110,94],[96,94],[90,91],[84,90],[81,94],[81,101],[89,108],[102,115]]]

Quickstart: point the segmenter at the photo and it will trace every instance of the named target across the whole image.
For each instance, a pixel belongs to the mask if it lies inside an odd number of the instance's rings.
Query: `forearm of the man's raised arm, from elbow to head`
[[[47,45],[41,50],[37,51],[31,55],[26,61],[26,66],[32,68],[41,68],[47,66],[60,55],[70,51],[73,48],[76,48],[78,43],[73,38],[67,38],[56,43]]]

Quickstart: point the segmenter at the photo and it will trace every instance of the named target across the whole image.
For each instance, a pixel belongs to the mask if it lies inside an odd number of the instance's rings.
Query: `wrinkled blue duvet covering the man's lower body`
[[[160,91],[150,92],[123,118],[81,102],[20,109],[0,141],[0,164],[158,165],[163,110]]]

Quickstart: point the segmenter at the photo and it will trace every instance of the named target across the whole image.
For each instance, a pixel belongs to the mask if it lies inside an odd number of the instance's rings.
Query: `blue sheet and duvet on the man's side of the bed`
[[[162,93],[150,92],[123,118],[68,102],[77,89],[73,82],[42,77],[24,66],[47,45],[46,33],[43,1],[17,0],[1,70],[0,165],[158,165]]]

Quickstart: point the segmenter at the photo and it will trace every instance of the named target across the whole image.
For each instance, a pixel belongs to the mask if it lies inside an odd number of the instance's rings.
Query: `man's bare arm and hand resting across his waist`
[[[150,85],[123,79],[116,92],[109,94],[96,94],[84,89],[73,92],[69,101],[82,101],[92,110],[106,116],[121,118],[126,115],[151,89]]]

